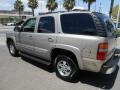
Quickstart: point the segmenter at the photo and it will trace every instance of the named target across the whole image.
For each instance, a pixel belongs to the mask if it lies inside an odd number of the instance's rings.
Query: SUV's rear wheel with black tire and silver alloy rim
[[[66,55],[56,57],[54,69],[59,78],[68,82],[74,81],[79,73],[78,65]]]

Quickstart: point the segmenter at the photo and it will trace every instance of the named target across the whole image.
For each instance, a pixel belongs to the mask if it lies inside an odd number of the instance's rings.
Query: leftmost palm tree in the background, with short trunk
[[[24,11],[24,5],[21,0],[16,0],[14,3],[14,9],[19,13],[19,19],[21,19],[21,14]]]

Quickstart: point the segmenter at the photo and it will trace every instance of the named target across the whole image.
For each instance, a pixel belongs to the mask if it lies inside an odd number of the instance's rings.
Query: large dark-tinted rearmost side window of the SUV
[[[63,14],[61,25],[64,33],[96,35],[97,31],[89,14]]]

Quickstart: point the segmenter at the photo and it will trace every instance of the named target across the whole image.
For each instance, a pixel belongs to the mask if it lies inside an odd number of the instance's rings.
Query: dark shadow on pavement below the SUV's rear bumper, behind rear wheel
[[[79,74],[79,78],[77,78],[75,83],[80,81],[81,83],[84,84],[88,84],[94,87],[108,90],[114,86],[118,71],[119,71],[119,66],[117,66],[117,69],[114,73],[109,75],[81,71]]]

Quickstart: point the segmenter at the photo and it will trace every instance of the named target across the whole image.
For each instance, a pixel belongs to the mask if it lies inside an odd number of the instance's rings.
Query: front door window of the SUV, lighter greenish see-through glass
[[[23,32],[34,32],[35,23],[36,23],[35,18],[31,18],[31,19],[27,20],[22,27]]]

